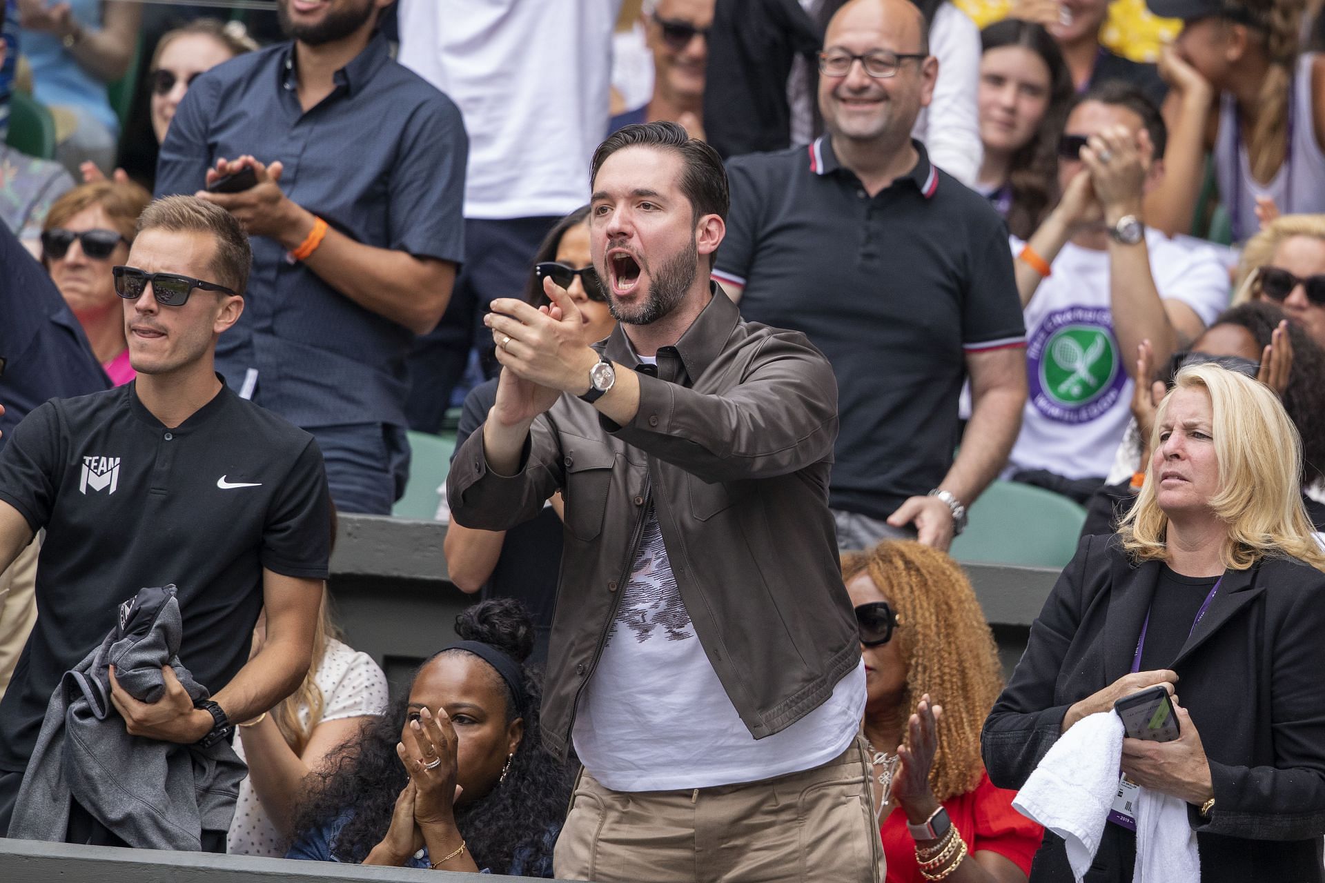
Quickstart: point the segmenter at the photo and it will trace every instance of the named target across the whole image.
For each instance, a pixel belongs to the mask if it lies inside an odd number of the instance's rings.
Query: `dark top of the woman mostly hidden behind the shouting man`
[[[456,450],[488,420],[497,402],[497,379],[481,383],[465,396],[465,406],[456,428]],[[454,462],[454,454],[452,454]],[[547,641],[556,608],[556,579],[562,567],[562,519],[551,506],[523,524],[506,531],[497,567],[484,586],[484,598],[517,598],[534,620],[538,633],[533,662],[547,659]]]

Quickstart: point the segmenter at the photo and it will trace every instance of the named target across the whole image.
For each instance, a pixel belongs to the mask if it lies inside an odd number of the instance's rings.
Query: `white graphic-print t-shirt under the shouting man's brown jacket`
[[[575,718],[575,753],[619,792],[759,781],[812,769],[851,745],[865,711],[864,662],[822,706],[755,740],[694,634],[653,507]]]

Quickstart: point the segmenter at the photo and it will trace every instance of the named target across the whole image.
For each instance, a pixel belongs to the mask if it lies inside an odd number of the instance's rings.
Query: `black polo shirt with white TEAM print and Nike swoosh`
[[[0,702],[0,770],[21,770],[46,703],[139,588],[174,582],[180,661],[213,694],[248,661],[262,569],[323,580],[330,496],[317,442],[221,388],[167,429],[136,381],[49,401],[0,451],[0,500],[46,528],[37,624]]]

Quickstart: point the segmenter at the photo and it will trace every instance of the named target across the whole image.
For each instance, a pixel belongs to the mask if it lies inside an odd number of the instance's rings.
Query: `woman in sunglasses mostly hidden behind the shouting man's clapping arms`
[[[616,319],[590,258],[587,205],[558,221],[534,254],[525,298],[539,307],[549,303],[543,277],[550,277],[575,301],[587,343],[612,334]],[[456,450],[482,425],[496,401],[496,377],[469,391],[456,430]],[[447,518],[445,506],[443,502],[439,518]],[[545,659],[562,556],[560,496],[554,496],[538,518],[510,531],[480,531],[452,522],[447,528],[445,553],[450,581],[462,592],[482,589],[485,598],[515,597],[529,606],[538,633],[534,659]]]

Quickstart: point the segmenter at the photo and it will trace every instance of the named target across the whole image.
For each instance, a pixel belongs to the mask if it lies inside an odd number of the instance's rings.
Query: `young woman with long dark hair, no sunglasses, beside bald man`
[[[980,32],[977,107],[984,160],[977,189],[1028,240],[1053,207],[1057,140],[1072,77],[1041,25],[1004,19]]]

